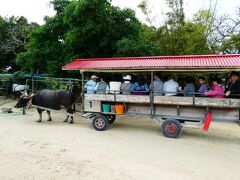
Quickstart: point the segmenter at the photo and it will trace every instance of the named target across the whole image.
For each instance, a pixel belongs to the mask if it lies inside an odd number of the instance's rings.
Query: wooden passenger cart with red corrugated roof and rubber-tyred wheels
[[[148,72],[153,82],[154,72],[204,75],[239,71],[240,55],[77,59],[64,66],[63,70],[80,70],[82,81],[86,72]],[[104,104],[110,105],[111,110],[104,111]],[[118,104],[124,106],[122,113],[114,108]],[[92,119],[93,127],[98,131],[106,130],[118,115],[149,115],[160,123],[166,137],[177,138],[183,128],[203,128],[207,131],[212,120],[239,124],[240,99],[197,97],[195,93],[192,93],[192,97],[155,96],[153,88],[149,95],[83,93],[82,113],[84,117]]]

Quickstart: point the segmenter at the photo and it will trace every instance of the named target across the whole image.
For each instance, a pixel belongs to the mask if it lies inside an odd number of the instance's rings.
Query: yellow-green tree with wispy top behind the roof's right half
[[[182,0],[168,0],[166,24],[157,31],[162,55],[211,54],[204,18],[198,14],[186,21]],[[205,16],[204,16],[205,17]]]

